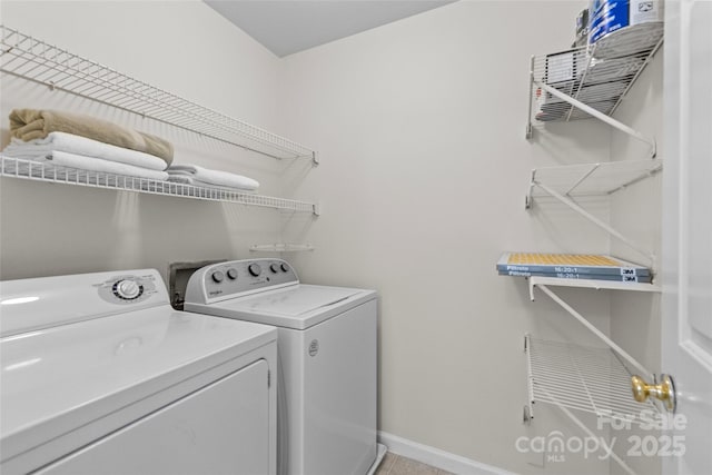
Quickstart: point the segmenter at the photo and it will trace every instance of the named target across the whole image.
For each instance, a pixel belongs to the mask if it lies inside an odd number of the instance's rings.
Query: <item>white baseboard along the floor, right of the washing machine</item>
[[[512,472],[461,457],[439,448],[418,444],[397,435],[378,431],[378,442],[388,447],[388,452],[403,455],[421,463],[432,465],[457,475],[514,475]]]

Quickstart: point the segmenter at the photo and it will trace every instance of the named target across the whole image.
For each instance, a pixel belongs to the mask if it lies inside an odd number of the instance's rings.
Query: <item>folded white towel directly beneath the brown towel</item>
[[[167,166],[165,160],[161,160],[154,155],[103,144],[66,132],[51,132],[43,139],[34,139],[30,141],[13,138],[10,145],[7,146],[2,152],[10,157],[31,160],[34,157],[47,155],[52,151],[65,151],[85,157],[95,157],[102,160],[116,161],[151,170],[165,170]]]

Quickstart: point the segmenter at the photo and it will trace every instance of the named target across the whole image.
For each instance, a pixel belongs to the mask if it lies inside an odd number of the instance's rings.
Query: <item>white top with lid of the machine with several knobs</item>
[[[372,298],[373,290],[300,284],[209,305],[186,303],[186,309],[304,329]]]

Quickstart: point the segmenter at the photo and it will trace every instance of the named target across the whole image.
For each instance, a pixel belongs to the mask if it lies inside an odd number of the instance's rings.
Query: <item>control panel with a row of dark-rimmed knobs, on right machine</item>
[[[286,260],[231,260],[196,271],[188,281],[186,301],[207,303],[296,284],[299,279]],[[197,289],[202,295],[197,295]]]

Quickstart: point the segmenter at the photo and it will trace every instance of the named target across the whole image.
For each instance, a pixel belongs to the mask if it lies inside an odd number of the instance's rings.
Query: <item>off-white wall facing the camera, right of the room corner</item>
[[[530,56],[565,49],[582,6],[461,1],[287,57],[280,73],[284,129],[322,156],[288,185],[325,210],[286,229],[316,246],[291,259],[307,281],[379,291],[380,429],[522,473],[607,472],[516,452],[521,435],[581,435],[544,407],[522,425],[524,333],[600,343],[495,270],[504,250],[609,250],[570,211],[523,206],[533,167],[610,157],[595,121],[524,138]],[[607,295],[562,294],[607,329]]]

